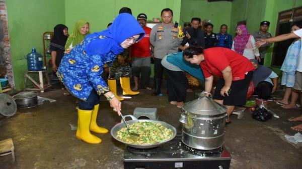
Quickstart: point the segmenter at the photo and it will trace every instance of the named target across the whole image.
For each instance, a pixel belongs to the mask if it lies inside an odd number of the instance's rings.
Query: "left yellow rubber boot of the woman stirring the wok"
[[[78,109],[78,129],[77,136],[78,139],[81,139],[90,144],[98,144],[102,140],[90,133],[90,122],[91,122],[92,110],[81,110]]]

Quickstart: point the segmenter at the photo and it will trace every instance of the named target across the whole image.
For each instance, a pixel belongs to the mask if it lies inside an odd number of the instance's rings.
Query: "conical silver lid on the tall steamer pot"
[[[226,108],[223,105],[216,103],[210,97],[204,95],[185,103],[182,109],[190,113],[190,115],[197,117],[215,116],[226,112]]]

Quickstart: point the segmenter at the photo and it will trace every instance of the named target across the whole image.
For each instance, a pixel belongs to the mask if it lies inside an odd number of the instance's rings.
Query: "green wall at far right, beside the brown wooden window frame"
[[[260,27],[261,21],[269,21],[270,32],[273,36],[276,33],[278,13],[292,8],[293,1],[283,0],[234,0],[232,4],[231,29],[235,30],[237,22],[247,20],[247,28],[250,33],[254,33]],[[302,1],[296,1],[295,7],[302,6]],[[231,30],[230,30],[231,31]],[[231,32],[235,35],[235,31]],[[273,45],[268,49],[264,64],[271,65]],[[271,67],[279,73],[278,68]]]

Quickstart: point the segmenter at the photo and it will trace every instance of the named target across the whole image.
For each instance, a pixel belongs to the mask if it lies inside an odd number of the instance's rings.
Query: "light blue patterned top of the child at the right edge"
[[[287,49],[287,53],[285,55],[285,59],[281,66],[283,72],[295,72],[297,69],[297,61],[299,57],[299,52],[301,48],[301,41],[293,42]]]

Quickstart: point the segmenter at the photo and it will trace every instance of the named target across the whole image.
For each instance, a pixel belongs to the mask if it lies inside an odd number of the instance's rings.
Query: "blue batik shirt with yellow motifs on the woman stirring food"
[[[108,85],[102,78],[103,65],[110,64],[116,55],[112,52],[88,55],[84,50],[90,42],[98,39],[106,40],[106,38],[97,35],[85,38],[62,58],[57,70],[57,76],[67,90],[81,100],[86,101],[92,90],[96,90],[99,95],[109,91]]]

